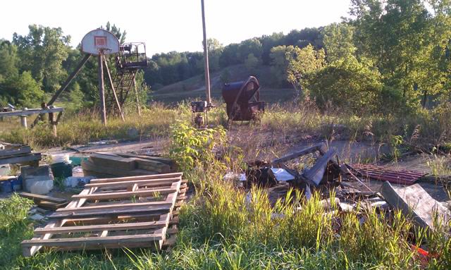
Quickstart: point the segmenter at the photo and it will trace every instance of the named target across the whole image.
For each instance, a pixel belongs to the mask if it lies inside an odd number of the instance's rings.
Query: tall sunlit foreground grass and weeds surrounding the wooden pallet
[[[268,124],[268,123],[266,123]],[[0,201],[0,265],[3,269],[450,269],[449,225],[426,234],[402,214],[385,219],[376,211],[339,214],[288,192],[274,207],[265,190],[247,193],[223,180],[242,164],[223,128],[193,133],[173,126],[170,155],[185,171],[194,197],[182,207],[180,233],[171,252],[39,252],[21,256],[20,241],[32,237],[30,202]],[[216,138],[216,140],[212,140]],[[183,146],[183,147],[180,147]],[[223,153],[218,159],[212,149]],[[295,209],[300,207],[300,211]],[[337,209],[332,205],[332,210]],[[413,245],[427,244],[426,262]]]

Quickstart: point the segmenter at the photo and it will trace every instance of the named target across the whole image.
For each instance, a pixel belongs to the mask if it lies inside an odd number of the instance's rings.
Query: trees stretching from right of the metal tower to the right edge
[[[226,47],[209,39],[210,68],[271,66],[274,86],[291,85],[323,109],[412,111],[450,99],[450,15],[450,0],[352,0],[341,23]],[[151,63],[144,78],[156,88],[203,73],[199,52]]]

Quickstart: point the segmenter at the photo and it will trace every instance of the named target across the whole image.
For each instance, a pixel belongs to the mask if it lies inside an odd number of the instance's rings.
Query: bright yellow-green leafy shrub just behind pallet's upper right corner
[[[192,125],[179,122],[171,127],[171,139],[169,156],[183,171],[189,171],[197,161],[214,160],[212,151],[226,142],[226,130],[221,125],[197,130]]]

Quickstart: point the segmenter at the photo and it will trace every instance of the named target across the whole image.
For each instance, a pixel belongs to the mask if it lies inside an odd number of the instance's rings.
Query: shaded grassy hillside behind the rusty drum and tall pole
[[[274,87],[271,83],[271,70],[269,66],[259,66],[254,73],[250,73],[245,65],[229,66],[210,74],[211,97],[216,100],[222,100],[221,74],[228,70],[230,82],[246,80],[249,75],[256,75],[260,82],[260,98],[268,103],[285,102],[295,95],[292,88]],[[177,103],[182,100],[205,99],[204,75],[197,75],[181,82],[166,85],[153,92],[156,102],[166,104]]]

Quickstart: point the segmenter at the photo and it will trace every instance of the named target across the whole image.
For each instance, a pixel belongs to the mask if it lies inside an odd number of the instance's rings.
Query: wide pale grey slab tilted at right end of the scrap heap
[[[406,216],[411,216],[421,228],[434,229],[434,218],[444,222],[451,217],[450,211],[437,202],[426,192],[421,185],[414,184],[404,188],[394,188],[385,181],[381,193],[392,207],[400,209]]]

